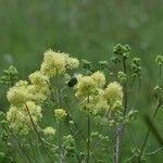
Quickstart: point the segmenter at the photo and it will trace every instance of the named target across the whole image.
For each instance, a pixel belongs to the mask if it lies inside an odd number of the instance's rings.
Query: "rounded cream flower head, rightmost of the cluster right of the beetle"
[[[123,88],[117,82],[110,83],[104,90],[104,97],[112,100],[122,100],[123,99]]]

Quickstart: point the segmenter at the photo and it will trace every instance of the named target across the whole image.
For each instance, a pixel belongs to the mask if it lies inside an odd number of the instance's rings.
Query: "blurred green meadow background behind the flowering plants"
[[[142,111],[154,104],[149,92],[158,82],[154,59],[162,54],[162,0],[0,0],[0,74],[13,64],[25,77],[49,48],[97,62],[110,60],[116,43],[128,43],[142,60]],[[0,108],[7,109],[0,90]],[[139,123],[136,135],[141,128]],[[163,156],[155,156],[161,163]]]

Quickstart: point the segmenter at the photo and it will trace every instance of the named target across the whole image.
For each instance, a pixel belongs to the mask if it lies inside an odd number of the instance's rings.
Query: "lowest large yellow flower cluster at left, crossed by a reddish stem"
[[[25,135],[33,129],[30,118],[33,118],[35,125],[42,118],[41,108],[33,101],[28,101],[20,108],[11,105],[7,112],[7,121],[10,123],[10,127],[18,134]]]

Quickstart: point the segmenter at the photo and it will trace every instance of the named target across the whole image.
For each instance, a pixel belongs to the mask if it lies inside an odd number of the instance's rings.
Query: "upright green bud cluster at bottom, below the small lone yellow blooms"
[[[75,139],[72,135],[63,137],[63,148],[65,149],[65,154],[67,156],[74,156],[75,154]]]

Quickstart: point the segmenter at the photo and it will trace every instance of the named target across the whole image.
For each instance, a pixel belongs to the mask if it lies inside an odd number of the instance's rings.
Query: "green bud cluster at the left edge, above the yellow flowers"
[[[11,65],[9,67],[9,70],[4,70],[3,71],[3,75],[0,78],[0,83],[2,85],[10,85],[10,86],[12,86],[12,85],[15,84],[15,82],[17,79],[18,79],[18,72],[13,65]]]

